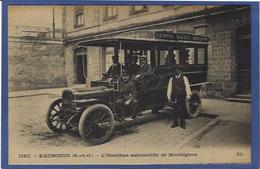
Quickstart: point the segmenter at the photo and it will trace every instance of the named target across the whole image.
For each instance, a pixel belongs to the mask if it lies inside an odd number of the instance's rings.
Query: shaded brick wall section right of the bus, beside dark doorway
[[[208,81],[215,96],[236,94],[236,29],[250,24],[250,12],[226,13],[207,19],[210,38]]]

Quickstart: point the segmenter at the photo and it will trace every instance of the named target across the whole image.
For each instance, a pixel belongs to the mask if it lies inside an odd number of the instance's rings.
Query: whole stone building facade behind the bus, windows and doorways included
[[[169,30],[209,37],[209,93],[250,93],[250,6],[70,6],[63,8],[66,83],[90,84],[108,68],[112,51],[84,40],[135,30]]]

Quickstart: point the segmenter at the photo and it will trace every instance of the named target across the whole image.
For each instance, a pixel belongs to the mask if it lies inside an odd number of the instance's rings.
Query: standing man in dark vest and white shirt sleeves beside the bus
[[[179,125],[180,119],[181,128],[185,129],[185,114],[186,114],[186,100],[191,97],[191,89],[189,81],[186,76],[181,74],[181,69],[175,69],[175,75],[170,78],[167,88],[167,98],[170,105],[172,105],[176,112],[173,116],[172,128]]]

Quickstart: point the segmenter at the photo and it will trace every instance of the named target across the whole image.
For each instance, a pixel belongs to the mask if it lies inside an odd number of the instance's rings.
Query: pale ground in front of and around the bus
[[[214,162],[218,160],[248,162],[250,160],[251,104],[249,103],[203,99],[204,116],[187,119],[186,130],[179,127],[172,129],[169,116],[158,118],[153,114],[143,117],[145,120],[141,123],[121,125],[121,128],[115,130],[112,138],[105,144],[89,146],[80,138],[78,132],[57,135],[46,126],[45,116],[48,106],[61,96],[63,89],[9,92],[9,149],[13,154],[9,156],[10,161],[21,160],[15,154],[24,152],[116,153],[150,152],[151,150],[152,152],[169,152],[176,149],[188,150],[188,152],[204,150],[208,152],[208,149],[214,149],[214,152],[228,150],[229,153],[233,152],[230,151],[232,149],[239,155],[243,155],[237,159],[236,154],[233,153],[231,157],[234,155],[235,158],[224,158],[224,156],[223,159],[216,153],[217,159],[213,156],[206,156],[203,157],[204,161],[196,161],[194,158],[195,162],[211,162],[212,159],[215,160]],[[142,161],[144,159],[138,160],[140,163],[144,162]],[[57,162],[57,159],[54,162]]]

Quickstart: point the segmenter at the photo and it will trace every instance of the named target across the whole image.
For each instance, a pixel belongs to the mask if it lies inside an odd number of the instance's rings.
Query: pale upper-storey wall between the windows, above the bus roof
[[[207,6],[207,9],[216,6]],[[75,7],[66,7],[66,38],[82,38],[92,34],[126,30],[127,28],[145,25],[149,22],[159,21],[161,19],[173,18],[185,13],[194,13],[205,10],[205,6],[148,6],[147,12],[129,14],[129,6],[118,6],[118,17],[111,20],[104,20],[104,6],[85,6],[84,18],[85,24],[82,27],[74,27]]]

